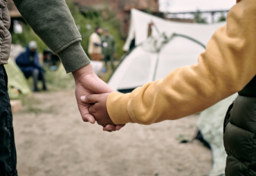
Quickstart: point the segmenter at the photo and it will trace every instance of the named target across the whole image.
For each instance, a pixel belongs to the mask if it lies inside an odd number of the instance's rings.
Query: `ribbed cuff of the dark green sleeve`
[[[91,62],[85,54],[80,41],[68,46],[68,48],[59,52],[57,56],[60,57],[66,73],[78,70]]]

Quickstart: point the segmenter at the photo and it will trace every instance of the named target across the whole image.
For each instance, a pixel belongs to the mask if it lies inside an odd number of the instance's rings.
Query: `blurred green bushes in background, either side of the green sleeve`
[[[102,12],[95,12],[89,10],[87,12],[81,12],[80,9],[71,0],[66,1],[68,8],[71,10],[71,14],[75,20],[80,34],[82,35],[82,48],[87,53],[89,45],[89,37],[94,32],[96,26],[102,28],[109,28],[109,32],[113,35],[116,41],[116,55],[121,57],[123,55],[122,46],[124,45],[125,34],[120,31],[120,21],[116,15],[111,12],[107,6]],[[23,32],[21,34],[12,34],[12,43],[19,43],[21,46],[26,47],[29,41],[37,41],[38,51],[43,52],[46,49],[46,45],[35,32],[27,25],[24,24]]]

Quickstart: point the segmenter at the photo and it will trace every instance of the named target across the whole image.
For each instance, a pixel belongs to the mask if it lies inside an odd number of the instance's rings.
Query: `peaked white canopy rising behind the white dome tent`
[[[122,49],[128,51],[131,40],[134,39],[134,37],[136,38],[136,46],[146,41],[148,24],[152,22],[154,23],[154,26],[152,26],[152,36],[158,36],[162,33],[165,33],[167,36],[174,33],[188,35],[189,37],[192,37],[205,45],[210,40],[210,37],[212,37],[213,32],[217,28],[220,28],[226,24],[226,22],[209,25],[167,21],[133,8],[131,9],[131,19],[127,41]]]

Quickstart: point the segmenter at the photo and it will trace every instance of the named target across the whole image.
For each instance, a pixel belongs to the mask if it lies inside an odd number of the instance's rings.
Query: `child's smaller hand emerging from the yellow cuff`
[[[82,96],[81,101],[86,104],[91,104],[89,106],[89,113],[93,115],[97,123],[104,128],[108,124],[116,125],[113,123],[111,118],[109,117],[109,113],[107,113],[107,97],[109,93],[99,94],[99,95],[87,95]],[[109,129],[109,131],[113,129]]]

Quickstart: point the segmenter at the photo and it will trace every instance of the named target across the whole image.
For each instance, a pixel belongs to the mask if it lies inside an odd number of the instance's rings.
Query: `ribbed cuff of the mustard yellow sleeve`
[[[114,124],[134,123],[127,109],[130,96],[131,93],[112,92],[107,98],[107,112]]]

